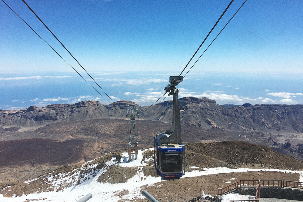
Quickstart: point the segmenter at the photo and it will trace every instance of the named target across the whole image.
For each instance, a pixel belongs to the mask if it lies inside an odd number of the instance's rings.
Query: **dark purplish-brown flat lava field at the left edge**
[[[84,140],[51,139],[0,141],[0,167],[73,164],[82,160],[84,143]]]

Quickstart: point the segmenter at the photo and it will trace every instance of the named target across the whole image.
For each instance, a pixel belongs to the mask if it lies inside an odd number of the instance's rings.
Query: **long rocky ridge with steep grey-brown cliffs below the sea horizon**
[[[235,131],[277,130],[303,132],[303,105],[245,103],[223,108],[208,98],[185,97],[181,124],[195,127],[219,127]],[[133,101],[117,101],[109,105],[98,101],[75,104],[51,104],[43,108],[30,106],[24,110],[0,110],[1,126],[39,126],[58,121],[83,121],[97,118],[125,118],[127,108],[138,108],[140,119],[171,122],[172,101],[141,107]],[[147,110],[148,109],[148,110]],[[211,120],[211,121],[210,121]]]

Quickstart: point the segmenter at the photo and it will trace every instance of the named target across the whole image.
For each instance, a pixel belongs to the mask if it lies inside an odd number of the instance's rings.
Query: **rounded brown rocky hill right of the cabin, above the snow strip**
[[[188,149],[188,164],[200,167],[207,167],[207,165],[213,167],[213,164],[216,163],[230,168],[303,169],[302,161],[280,154],[268,147],[243,141],[190,143],[186,148]]]

